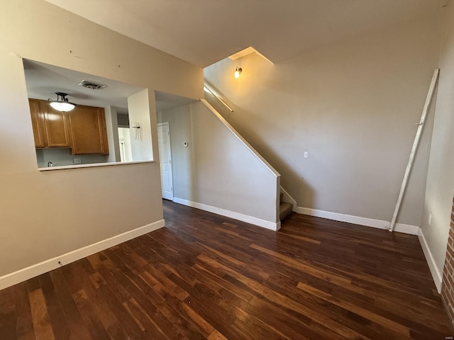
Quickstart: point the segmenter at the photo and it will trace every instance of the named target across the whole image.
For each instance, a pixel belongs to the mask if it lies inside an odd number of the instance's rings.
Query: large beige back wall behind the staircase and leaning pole
[[[299,207],[390,221],[438,65],[437,26],[438,17],[419,18],[279,64],[253,54],[204,73]],[[432,121],[433,111],[400,223],[421,223]]]

